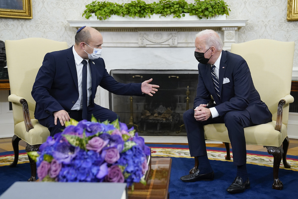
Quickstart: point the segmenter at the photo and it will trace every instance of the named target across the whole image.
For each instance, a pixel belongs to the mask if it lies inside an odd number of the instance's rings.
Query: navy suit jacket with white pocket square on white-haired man
[[[254,124],[272,121],[272,114],[254,87],[252,76],[246,61],[228,51],[222,51],[219,67],[219,92],[216,95],[211,77],[210,64],[198,64],[198,87],[194,108],[200,104],[208,104],[211,96],[216,103],[220,116],[226,112],[246,109]],[[225,81],[224,81],[225,78]]]

